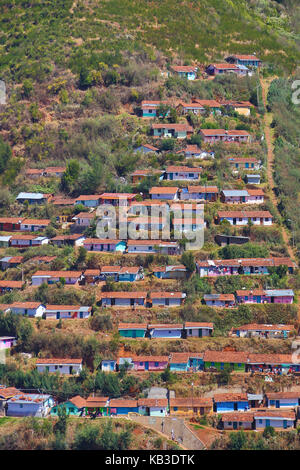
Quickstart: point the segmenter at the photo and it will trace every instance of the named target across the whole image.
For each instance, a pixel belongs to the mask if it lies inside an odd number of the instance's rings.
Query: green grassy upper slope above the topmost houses
[[[141,49],[149,57],[158,49],[204,62],[255,51],[290,70],[300,55],[287,13],[270,0],[5,2],[0,73],[16,82],[43,80],[54,64],[74,71],[82,61],[112,65],[121,61],[120,52]]]

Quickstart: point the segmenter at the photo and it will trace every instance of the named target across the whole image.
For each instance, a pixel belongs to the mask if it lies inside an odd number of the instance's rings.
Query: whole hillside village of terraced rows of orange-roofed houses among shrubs
[[[131,53],[25,74],[0,105],[0,448],[1,419],[64,413],[125,417],[164,449],[273,428],[284,448],[300,275],[268,121],[280,70],[245,44]]]

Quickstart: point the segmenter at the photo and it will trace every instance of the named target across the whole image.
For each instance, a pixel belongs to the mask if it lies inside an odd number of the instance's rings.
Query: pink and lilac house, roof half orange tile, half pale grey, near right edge
[[[291,289],[238,290],[236,298],[243,304],[292,304],[294,292]]]

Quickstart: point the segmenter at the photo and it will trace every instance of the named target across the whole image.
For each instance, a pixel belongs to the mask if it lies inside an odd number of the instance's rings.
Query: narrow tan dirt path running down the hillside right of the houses
[[[270,82],[271,82],[270,79],[269,80],[265,80],[265,79],[260,80],[260,83],[261,83],[261,86],[262,86],[263,103],[264,103],[265,108],[267,108],[267,94],[268,94],[268,89],[269,89],[269,86],[270,86]],[[277,209],[277,212],[279,214],[279,211],[278,211],[279,201],[278,201],[278,199],[276,197],[276,194],[275,194],[275,182],[274,182],[274,177],[273,177],[273,172],[274,172],[273,138],[274,137],[273,137],[273,129],[271,128],[272,121],[273,121],[272,113],[266,112],[265,115],[264,115],[264,131],[265,131],[265,139],[266,139],[266,143],[267,143],[267,147],[268,147],[267,176],[268,176],[268,182],[269,182],[270,189],[271,189],[270,190],[270,199],[273,202],[273,204],[274,204],[274,206]],[[292,247],[289,244],[290,237],[289,237],[288,231],[286,230],[286,228],[283,225],[281,227],[281,231],[282,231],[283,240],[284,240],[284,243],[286,244],[286,248],[288,250],[289,256],[290,256],[291,259],[295,260],[294,250],[292,249]]]

